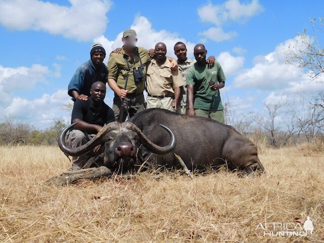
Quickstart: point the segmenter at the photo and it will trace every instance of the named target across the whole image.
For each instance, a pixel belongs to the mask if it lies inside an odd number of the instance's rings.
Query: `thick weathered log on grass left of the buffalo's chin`
[[[104,176],[110,176],[112,173],[107,167],[88,168],[77,171],[67,171],[59,176],[48,179],[45,183],[48,185],[64,186],[73,184],[79,179],[95,179]]]

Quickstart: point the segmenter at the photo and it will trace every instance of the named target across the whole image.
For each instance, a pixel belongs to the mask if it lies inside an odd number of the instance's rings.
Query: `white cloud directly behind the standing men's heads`
[[[158,42],[163,42],[167,46],[167,55],[170,57],[175,57],[174,54],[174,44],[177,42],[183,42],[187,46],[188,50],[188,56],[193,56],[193,48],[195,44],[186,42],[184,38],[180,38],[178,33],[172,33],[167,30],[154,30],[152,28],[151,22],[148,21],[148,19],[144,16],[136,16],[134,19],[133,24],[130,26],[131,29],[134,29],[137,33],[137,46],[144,47],[146,49],[154,48],[155,44]],[[114,39],[114,41],[109,41],[105,36],[100,36],[98,38],[94,39],[94,43],[99,42],[103,45],[103,47],[106,50],[107,57],[105,59],[105,62],[107,61],[107,58],[109,57],[109,53],[116,49],[117,47],[123,46],[123,42],[121,42],[121,37],[123,36],[123,31],[121,31],[117,37]]]

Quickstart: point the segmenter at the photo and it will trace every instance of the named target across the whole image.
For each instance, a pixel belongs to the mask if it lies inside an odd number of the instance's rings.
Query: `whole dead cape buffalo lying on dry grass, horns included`
[[[249,139],[234,128],[209,118],[147,109],[126,123],[106,125],[96,137],[79,148],[69,148],[64,141],[66,132],[72,126],[66,127],[60,135],[61,150],[79,156],[104,143],[102,165],[113,170],[139,168],[144,162],[149,168],[155,165],[181,168],[176,153],[191,171],[205,171],[222,165],[248,174],[256,170],[264,171],[257,147]]]

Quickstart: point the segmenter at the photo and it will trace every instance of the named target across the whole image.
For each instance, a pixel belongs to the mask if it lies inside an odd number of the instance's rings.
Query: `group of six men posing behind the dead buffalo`
[[[79,66],[68,86],[74,101],[68,144],[78,147],[89,141],[111,121],[125,121],[149,108],[163,108],[178,114],[209,117],[224,123],[219,89],[225,86],[221,65],[213,56],[206,59],[204,45],[194,47],[195,60],[187,58],[182,42],[174,46],[178,60],[167,56],[164,43],[154,49],[136,47],[137,34],[123,33],[123,47],[113,51],[107,66],[100,44],[91,47],[91,59]],[[106,83],[114,91],[112,109],[104,103]],[[144,100],[144,90],[147,92]],[[100,146],[94,149],[98,151]],[[72,169],[87,167],[90,155],[73,157]]]

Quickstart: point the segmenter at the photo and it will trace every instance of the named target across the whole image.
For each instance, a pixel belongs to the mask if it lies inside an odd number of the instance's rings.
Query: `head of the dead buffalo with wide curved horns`
[[[166,154],[174,150],[177,140],[173,132],[164,125],[156,125],[167,131],[169,142],[165,146],[152,143],[134,124],[125,122],[109,123],[86,144],[77,148],[71,148],[65,143],[67,131],[76,123],[63,129],[59,136],[59,147],[67,155],[80,156],[92,153],[93,149],[101,144],[99,155],[93,156],[87,164],[89,167],[105,166],[112,171],[130,172],[134,171],[137,162],[136,155],[139,145],[145,146],[154,154]]]

